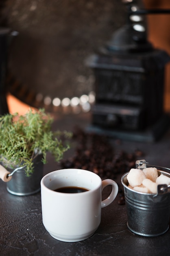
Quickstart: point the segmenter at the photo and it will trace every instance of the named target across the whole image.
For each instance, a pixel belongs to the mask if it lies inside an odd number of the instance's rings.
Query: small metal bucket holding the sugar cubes
[[[170,190],[168,186],[159,185],[157,194],[134,191],[128,187],[128,173],[121,178],[124,186],[128,228],[141,236],[164,234],[169,228],[170,219]],[[161,173],[170,177],[169,173],[158,170],[158,175]]]

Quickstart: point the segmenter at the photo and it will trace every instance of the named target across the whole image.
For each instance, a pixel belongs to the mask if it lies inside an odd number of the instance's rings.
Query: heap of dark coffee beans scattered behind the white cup
[[[116,179],[118,173],[126,173],[130,168],[135,168],[136,157],[142,156],[140,150],[135,150],[134,153],[116,150],[106,136],[87,133],[79,127],[74,128],[72,139],[76,142],[75,154],[61,161],[62,168],[93,171],[102,180]]]

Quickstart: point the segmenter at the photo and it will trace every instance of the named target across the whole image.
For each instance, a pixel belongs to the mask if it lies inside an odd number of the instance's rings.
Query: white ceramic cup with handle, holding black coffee
[[[112,186],[111,194],[102,201],[102,190]],[[61,193],[55,189],[79,186],[89,191]],[[62,169],[45,175],[41,180],[41,206],[44,227],[50,235],[65,242],[76,242],[94,234],[101,220],[101,208],[111,204],[118,194],[118,184],[101,180],[81,169]]]

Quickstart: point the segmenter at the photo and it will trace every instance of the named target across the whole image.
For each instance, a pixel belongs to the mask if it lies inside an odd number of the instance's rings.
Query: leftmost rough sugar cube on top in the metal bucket
[[[129,185],[132,187],[141,185],[144,179],[146,175],[141,169],[132,168],[127,175]]]

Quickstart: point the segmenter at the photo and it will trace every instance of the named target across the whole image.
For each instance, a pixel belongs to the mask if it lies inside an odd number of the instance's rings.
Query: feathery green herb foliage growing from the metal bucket
[[[44,164],[47,152],[59,162],[70,147],[67,141],[72,134],[52,131],[53,121],[44,109],[0,116],[0,162],[10,167],[26,166],[26,176],[33,173],[33,159],[38,154],[43,155]]]

